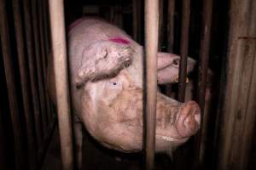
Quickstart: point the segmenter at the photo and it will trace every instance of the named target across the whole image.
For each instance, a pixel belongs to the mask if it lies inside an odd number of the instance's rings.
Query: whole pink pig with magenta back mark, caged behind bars
[[[143,47],[106,21],[82,18],[69,27],[68,54],[79,168],[82,126],[108,148],[142,150]],[[158,82],[176,81],[179,56],[158,53],[157,57]],[[194,64],[189,59],[188,72]],[[49,92],[55,101],[53,75],[49,73]],[[156,151],[169,152],[183,144],[197,132],[200,119],[201,111],[194,101],[179,103],[158,92]]]

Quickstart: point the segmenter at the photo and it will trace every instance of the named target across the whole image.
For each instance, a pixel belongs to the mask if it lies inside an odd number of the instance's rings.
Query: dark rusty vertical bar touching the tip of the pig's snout
[[[210,38],[211,38],[211,27],[212,27],[212,0],[203,1],[203,13],[202,13],[202,25],[201,25],[201,47],[200,47],[200,59],[199,59],[199,69],[198,69],[198,87],[197,87],[197,99],[201,107],[201,129],[199,132],[199,137],[201,142],[199,142],[198,150],[198,163],[199,166],[203,166],[205,158],[205,144],[207,136],[202,133],[206,131],[207,127],[204,126],[204,105],[205,105],[205,95],[207,87],[207,70],[209,61],[209,48],[210,48]]]

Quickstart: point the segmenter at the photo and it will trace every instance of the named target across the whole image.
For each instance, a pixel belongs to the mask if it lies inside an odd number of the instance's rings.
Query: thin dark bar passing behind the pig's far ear
[[[167,51],[173,53],[175,0],[168,0],[167,6]],[[171,97],[172,84],[166,84],[166,95]]]

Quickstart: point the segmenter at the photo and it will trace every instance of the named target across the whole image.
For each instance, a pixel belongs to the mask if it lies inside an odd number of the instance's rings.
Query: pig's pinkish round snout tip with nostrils
[[[201,111],[195,101],[181,106],[177,116],[177,133],[182,137],[192,136],[200,128]]]

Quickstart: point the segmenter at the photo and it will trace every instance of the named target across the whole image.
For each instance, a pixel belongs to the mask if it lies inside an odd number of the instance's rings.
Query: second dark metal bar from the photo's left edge
[[[25,59],[24,51],[24,39],[23,39],[23,28],[20,18],[20,3],[18,0],[13,0],[13,11],[15,20],[15,37],[17,43],[17,54],[20,67],[20,84],[22,92],[22,101],[25,113],[26,121],[26,135],[27,135],[27,148],[28,148],[28,160],[30,169],[35,169],[37,165],[36,156],[36,141],[34,139],[32,113],[31,113],[31,96],[28,82],[28,69]]]

